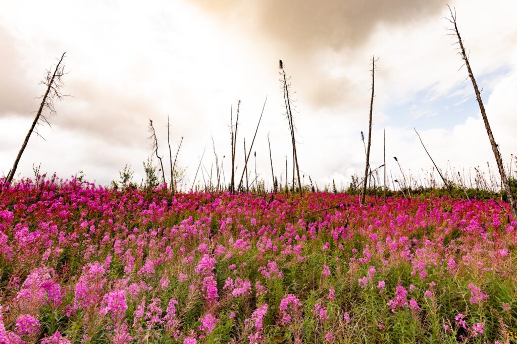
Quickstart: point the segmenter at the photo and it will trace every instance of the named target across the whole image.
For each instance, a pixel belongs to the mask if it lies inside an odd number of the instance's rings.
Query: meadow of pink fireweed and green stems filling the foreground
[[[0,343],[514,340],[504,202],[367,200],[4,186]]]

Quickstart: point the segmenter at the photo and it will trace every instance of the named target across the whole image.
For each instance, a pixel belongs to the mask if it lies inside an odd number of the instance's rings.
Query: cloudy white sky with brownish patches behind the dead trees
[[[458,0],[458,25],[501,153],[517,153],[517,3]],[[7,174],[38,108],[38,84],[56,57],[65,58],[64,92],[52,128],[41,126],[20,162],[107,184],[130,163],[134,181],[151,154],[152,119],[168,161],[166,118],[173,151],[190,188],[199,158],[214,163],[212,137],[226,181],[230,176],[230,110],[241,100],[237,174],[246,138],[257,173],[270,179],[267,135],[275,174],[291,165],[278,60],[295,94],[300,170],[318,185],[346,185],[364,170],[360,132],[368,131],[371,58],[378,56],[372,166],[402,167],[424,178],[440,168],[495,166],[488,136],[462,60],[447,37],[446,2],[342,0],[26,1],[0,0],[0,174]],[[254,161],[249,167],[254,168]],[[165,167],[167,168],[167,167]],[[515,170],[515,166],[512,167]],[[254,174],[254,171],[253,171]],[[215,175],[215,172],[214,172]],[[288,172],[292,178],[292,171]],[[198,179],[201,179],[201,173]],[[205,172],[205,178],[206,172]]]

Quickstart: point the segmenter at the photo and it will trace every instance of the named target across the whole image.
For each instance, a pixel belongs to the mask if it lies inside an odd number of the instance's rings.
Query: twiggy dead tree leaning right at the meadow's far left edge
[[[39,104],[38,112],[36,113],[36,117],[34,117],[31,129],[29,129],[27,136],[25,136],[25,140],[23,141],[22,147],[20,148],[20,151],[16,156],[16,160],[14,160],[14,164],[12,165],[11,170],[7,174],[6,182],[9,184],[12,182],[12,179],[16,174],[18,163],[22,158],[22,154],[25,151],[25,148],[27,147],[29,138],[31,138],[32,133],[35,132],[36,135],[40,136],[38,134],[38,131],[35,131],[36,125],[46,123],[50,126],[49,117],[52,117],[56,114],[56,110],[54,108],[54,101],[62,100],[63,97],[65,97],[65,95],[63,95],[59,90],[63,87],[63,81],[61,78],[63,77],[63,75],[66,74],[64,72],[65,66],[62,64],[63,59],[65,58],[65,54],[66,52],[64,52],[63,55],[61,55],[61,58],[59,59],[59,62],[57,62],[54,71],[51,72],[51,70],[49,69],[47,71],[47,75],[45,75],[45,80],[41,81],[41,84],[47,86],[47,90],[45,90],[44,95],[41,97],[41,103]],[[47,115],[43,114],[43,110],[45,109],[49,111],[48,117]]]

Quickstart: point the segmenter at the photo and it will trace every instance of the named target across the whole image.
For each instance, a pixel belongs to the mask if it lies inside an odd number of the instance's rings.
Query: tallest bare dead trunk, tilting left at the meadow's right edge
[[[454,9],[454,13],[449,5],[449,11],[451,14],[451,18],[447,18],[447,20],[454,26],[454,28],[448,29],[450,31],[450,36],[457,38],[456,42],[459,44],[459,54],[461,55],[464,65],[467,67],[468,76],[470,77],[470,81],[472,81],[472,86],[474,87],[474,92],[476,93],[476,99],[479,104],[479,110],[481,111],[481,116],[483,117],[483,122],[485,124],[486,133],[488,134],[488,138],[490,139],[490,145],[492,146],[492,151],[494,152],[495,161],[497,163],[497,168],[499,169],[499,174],[501,175],[501,183],[506,190],[506,195],[508,197],[508,201],[510,203],[511,212],[514,220],[517,219],[517,207],[515,206],[515,200],[513,199],[512,191],[510,189],[510,184],[508,183],[508,178],[506,177],[505,167],[503,165],[503,159],[501,158],[501,153],[499,152],[499,146],[495,143],[494,134],[492,133],[492,129],[490,128],[490,123],[488,121],[488,117],[486,117],[486,111],[483,105],[483,101],[481,100],[481,93],[478,88],[478,84],[476,83],[476,79],[474,77],[474,73],[472,72],[472,68],[470,68],[470,64],[468,62],[468,56],[465,52],[465,46],[463,45],[463,41],[460,36],[460,32],[458,30],[458,25],[456,23],[456,9]],[[462,65],[463,67],[463,65]],[[460,67],[461,69],[461,67]]]

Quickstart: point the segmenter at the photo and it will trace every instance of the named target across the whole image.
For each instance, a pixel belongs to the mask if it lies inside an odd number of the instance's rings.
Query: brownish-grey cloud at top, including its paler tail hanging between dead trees
[[[366,103],[361,95],[368,95],[368,87],[358,85],[350,75],[332,75],[336,68],[326,66],[329,61],[318,54],[330,49],[357,58],[381,25],[403,26],[431,15],[438,17],[445,7],[443,0],[193,1],[221,23],[245,30],[249,39],[269,54],[279,55],[293,76],[298,96],[315,109],[339,109],[336,113]],[[369,58],[369,54],[364,56],[365,74],[369,74]]]

